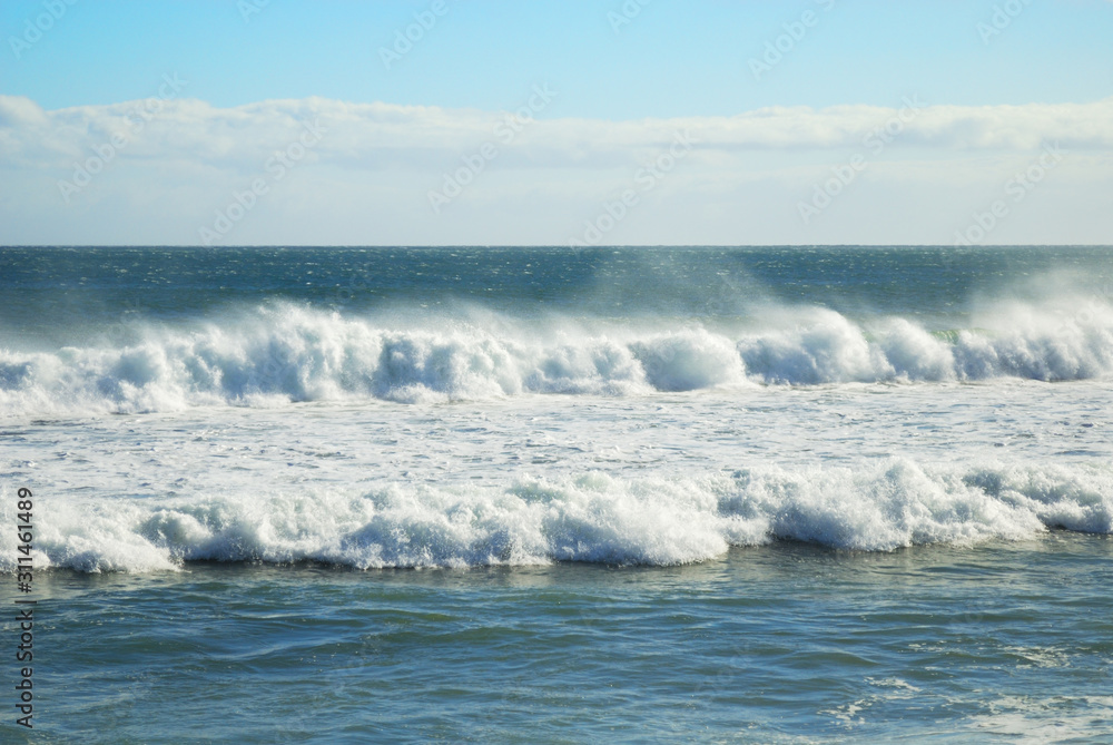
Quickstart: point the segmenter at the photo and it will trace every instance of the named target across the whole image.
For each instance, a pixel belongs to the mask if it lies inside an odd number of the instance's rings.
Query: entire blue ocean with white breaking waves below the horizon
[[[0,741],[1107,743],[1111,381],[1109,247],[0,248]]]

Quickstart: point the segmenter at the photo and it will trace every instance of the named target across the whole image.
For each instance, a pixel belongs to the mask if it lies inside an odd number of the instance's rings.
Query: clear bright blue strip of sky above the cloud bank
[[[887,106],[909,90],[937,104],[1089,101],[1113,84],[1107,2],[1032,0],[984,43],[977,23],[998,2],[652,0],[615,32],[617,0],[445,0],[417,49],[385,69],[378,48],[430,4],[270,0],[245,22],[236,0],[79,0],[23,59],[0,56],[0,80],[46,108],[141,98],[151,70],[177,70],[220,107],[322,96],[481,109],[550,80],[568,91],[561,115],[608,119]],[[808,10],[817,26],[754,80],[748,60]],[[4,36],[42,12],[4,0]]]

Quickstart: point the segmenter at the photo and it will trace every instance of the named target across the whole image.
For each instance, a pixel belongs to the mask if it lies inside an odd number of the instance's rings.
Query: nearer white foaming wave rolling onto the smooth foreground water
[[[16,522],[16,499],[0,513]],[[42,502],[41,504],[39,502]],[[386,484],[95,502],[38,499],[37,567],[173,570],[183,561],[322,561],[359,569],[552,561],[669,566],[732,546],[837,549],[1031,539],[1050,528],[1113,532],[1113,471],[999,463],[743,469],[624,480],[599,472],[508,487]],[[16,531],[0,532],[0,569]]]

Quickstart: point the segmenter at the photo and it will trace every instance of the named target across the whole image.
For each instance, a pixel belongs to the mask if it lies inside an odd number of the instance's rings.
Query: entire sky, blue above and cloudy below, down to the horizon
[[[0,244],[1113,244],[1109,0],[3,0]]]

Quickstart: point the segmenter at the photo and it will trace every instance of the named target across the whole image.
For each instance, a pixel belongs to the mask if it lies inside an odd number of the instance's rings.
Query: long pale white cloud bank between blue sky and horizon
[[[1016,227],[1004,225],[994,242],[1110,235],[1109,219],[1095,209],[1113,189],[1103,165],[1113,149],[1113,98],[926,106],[914,116],[905,110],[899,125],[900,107],[859,105],[637,121],[539,119],[520,126],[509,144],[500,136],[509,130],[496,129],[500,121],[505,127],[503,112],[323,98],[221,109],[179,99],[144,118],[136,114],[140,105],[46,111],[30,99],[0,96],[0,241],[196,243],[215,212],[266,177],[268,158],[315,121],[325,129],[319,141],[283,183],[269,185],[226,243],[563,244],[599,213],[601,200],[636,188],[639,168],[686,130],[698,143],[692,157],[641,195],[640,204],[652,206],[631,210],[607,242],[948,242],[1011,169],[1026,167],[1043,143],[1056,141],[1073,159],[1025,212],[1041,215],[1043,202],[1057,212],[1034,234],[1031,220],[1017,217]],[[893,143],[874,153],[864,138],[886,125]],[[112,148],[87,186],[65,195],[60,183],[72,182],[98,149],[108,153],[114,136],[124,147]],[[484,143],[496,147],[496,158],[434,214],[429,192]],[[856,153],[871,164],[859,183],[837,209],[801,225],[798,202]],[[1071,194],[1085,196],[1064,210],[1065,197],[1057,195],[1067,185],[1055,179],[1067,175]],[[1063,220],[1070,231],[1056,233]]]

